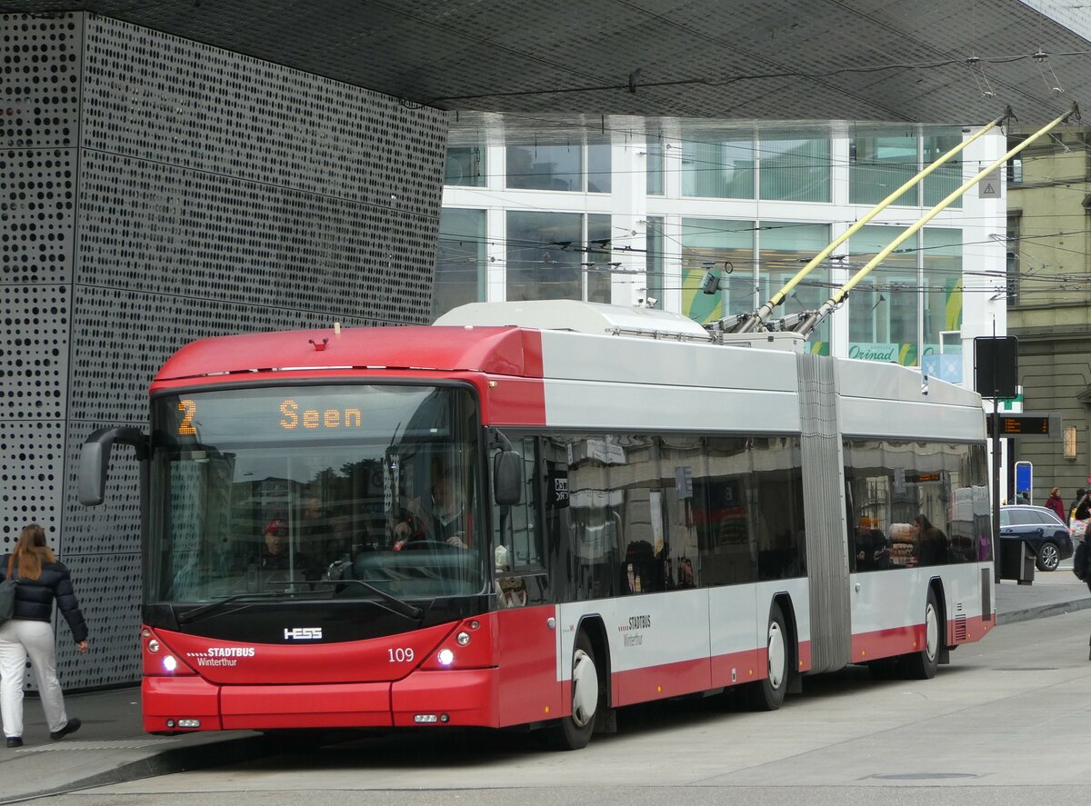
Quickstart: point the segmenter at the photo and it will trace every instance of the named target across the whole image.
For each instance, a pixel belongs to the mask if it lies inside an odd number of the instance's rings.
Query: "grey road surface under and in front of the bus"
[[[853,666],[807,678],[774,713],[731,697],[625,709],[616,734],[576,753],[526,734],[365,736],[40,802],[1086,806],[1089,634],[1091,611],[1002,625],[935,679],[873,681]]]

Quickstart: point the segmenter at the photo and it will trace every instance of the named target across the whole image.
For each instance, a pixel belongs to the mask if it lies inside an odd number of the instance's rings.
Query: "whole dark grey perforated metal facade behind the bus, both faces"
[[[444,113],[108,19],[0,15],[0,553],[38,521],[91,626],[65,688],[140,678],[137,469],[76,501],[80,445],[143,426],[195,338],[425,323]],[[33,682],[32,682],[33,686]]]

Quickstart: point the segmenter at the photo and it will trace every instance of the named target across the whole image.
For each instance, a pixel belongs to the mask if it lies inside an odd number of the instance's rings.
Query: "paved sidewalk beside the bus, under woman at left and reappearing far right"
[[[1004,581],[995,590],[1002,627],[1091,609],[1091,591],[1072,576],[1070,566],[1038,574],[1031,585]],[[83,721],[83,727],[51,742],[40,703],[27,698],[25,745],[0,747],[0,805],[232,763],[275,750],[273,743],[250,731],[149,736],[141,724],[139,687],[67,695],[65,706],[70,715]]]

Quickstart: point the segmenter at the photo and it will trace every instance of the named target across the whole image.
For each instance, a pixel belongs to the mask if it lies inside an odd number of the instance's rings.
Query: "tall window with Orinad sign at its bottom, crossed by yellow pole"
[[[900,227],[863,227],[849,241],[852,270],[863,268],[901,232]],[[850,358],[918,365],[918,237],[907,239],[852,290]]]

